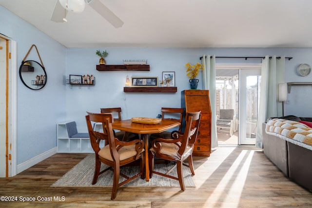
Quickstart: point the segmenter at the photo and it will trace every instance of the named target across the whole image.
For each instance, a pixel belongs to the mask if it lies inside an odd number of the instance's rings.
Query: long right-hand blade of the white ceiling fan
[[[86,0],[86,2],[114,27],[118,28],[123,25],[123,21],[120,20],[109,8],[107,8],[99,0]]]

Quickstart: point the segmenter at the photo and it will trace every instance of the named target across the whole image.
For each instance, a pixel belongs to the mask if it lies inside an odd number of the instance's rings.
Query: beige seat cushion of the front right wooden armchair
[[[160,142],[160,144],[161,144],[161,148],[159,150],[159,153],[169,155],[169,156],[175,158],[176,160],[181,160],[181,159],[192,154],[192,146],[189,146],[189,145],[185,148],[185,151],[181,157],[177,153],[177,151],[179,150],[179,146],[177,146],[176,144],[164,143],[164,142]],[[179,145],[181,145],[181,144],[179,144]],[[151,151],[155,152],[153,147],[151,148]]]

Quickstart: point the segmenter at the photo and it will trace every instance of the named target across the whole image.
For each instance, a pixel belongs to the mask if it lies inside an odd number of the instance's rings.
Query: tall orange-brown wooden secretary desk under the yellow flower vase
[[[181,107],[185,112],[201,111],[201,120],[194,145],[194,156],[210,156],[211,153],[211,107],[209,90],[183,90],[181,92]],[[185,127],[183,116],[182,131]]]

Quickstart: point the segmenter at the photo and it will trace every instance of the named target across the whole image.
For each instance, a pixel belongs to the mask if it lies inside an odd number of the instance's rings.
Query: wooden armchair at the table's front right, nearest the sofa
[[[192,113],[189,112],[187,113],[184,132],[173,131],[171,134],[172,139],[154,139],[152,147],[149,151],[150,178],[152,178],[153,173],[155,173],[164,177],[178,180],[181,190],[185,190],[182,166],[188,166],[192,174],[195,175],[193,166],[193,149],[197,139],[200,117],[200,111]],[[176,162],[177,177],[169,175],[171,170],[169,170],[167,173],[154,171],[155,157]],[[183,161],[186,159],[188,159],[188,165],[183,164]]]

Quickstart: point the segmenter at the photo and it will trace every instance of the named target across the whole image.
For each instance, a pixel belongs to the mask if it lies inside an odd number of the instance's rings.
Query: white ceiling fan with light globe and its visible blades
[[[110,22],[114,27],[118,28],[123,25],[123,21],[121,21],[109,8],[102,4],[100,0],[57,0],[51,16],[51,21],[67,22],[67,12],[82,12],[84,10],[85,3],[90,5],[98,12],[99,15]]]

